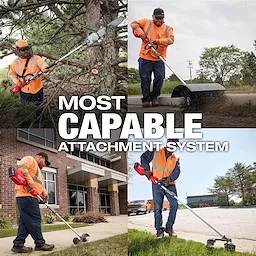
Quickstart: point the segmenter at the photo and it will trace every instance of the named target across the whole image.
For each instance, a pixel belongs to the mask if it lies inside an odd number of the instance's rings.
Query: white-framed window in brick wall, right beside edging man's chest
[[[46,167],[44,167],[46,168]],[[50,169],[50,168],[47,168]],[[47,203],[56,204],[56,173],[49,170],[42,170],[44,176],[44,186],[48,193]]]

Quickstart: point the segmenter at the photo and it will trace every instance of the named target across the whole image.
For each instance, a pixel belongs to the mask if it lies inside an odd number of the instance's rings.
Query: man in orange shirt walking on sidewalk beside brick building
[[[24,246],[27,236],[30,234],[35,242],[35,250],[51,251],[53,244],[46,244],[41,230],[41,213],[37,195],[47,198],[44,188],[44,178],[41,169],[49,166],[48,156],[44,152],[35,157],[25,156],[20,160],[18,169],[22,171],[27,185],[15,185],[16,201],[20,213],[17,237],[13,240],[12,251],[16,253],[30,253],[31,247]]]

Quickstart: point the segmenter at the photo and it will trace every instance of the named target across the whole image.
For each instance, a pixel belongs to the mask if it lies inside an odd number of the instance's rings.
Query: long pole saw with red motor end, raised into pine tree
[[[48,66],[47,69],[52,68],[53,66],[57,65],[59,62],[61,62],[63,59],[67,58],[72,53],[78,51],[80,48],[91,45],[95,42],[97,42],[99,39],[101,39],[105,34],[108,27],[117,27],[125,17],[120,16],[117,19],[111,21],[109,24],[107,24],[106,27],[103,27],[99,29],[97,32],[91,33],[79,46],[77,46],[75,49],[68,52],[66,55],[60,57],[59,59],[55,60],[51,65]],[[37,77],[41,76],[43,74],[43,71],[35,72],[34,74],[27,74],[24,79],[21,80],[21,86],[24,87],[27,84],[29,84],[30,81],[36,79]],[[28,76],[28,78],[26,78]],[[10,88],[10,91],[13,93],[18,93],[20,91],[20,87],[16,84],[12,85]]]

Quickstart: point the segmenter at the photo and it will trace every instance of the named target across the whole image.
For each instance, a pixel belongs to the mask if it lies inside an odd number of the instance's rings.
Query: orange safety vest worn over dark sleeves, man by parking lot
[[[161,148],[160,151],[155,150],[152,160],[153,176],[157,177],[158,179],[162,179],[163,177],[169,177],[174,170],[176,160],[177,159],[174,154],[171,154],[166,160],[164,148]],[[175,183],[175,181],[170,182],[170,184]]]

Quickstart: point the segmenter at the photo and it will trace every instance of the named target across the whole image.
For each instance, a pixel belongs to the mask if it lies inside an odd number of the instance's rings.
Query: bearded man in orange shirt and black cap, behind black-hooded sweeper
[[[164,11],[156,8],[152,15],[153,20],[140,19],[133,21],[131,27],[135,37],[142,39],[139,74],[141,78],[142,106],[153,107],[159,105],[157,98],[165,78],[164,62],[159,59],[152,49],[147,47],[151,43],[163,58],[166,57],[167,47],[174,43],[173,28],[164,23]],[[154,74],[153,90],[150,91],[151,75]]]

